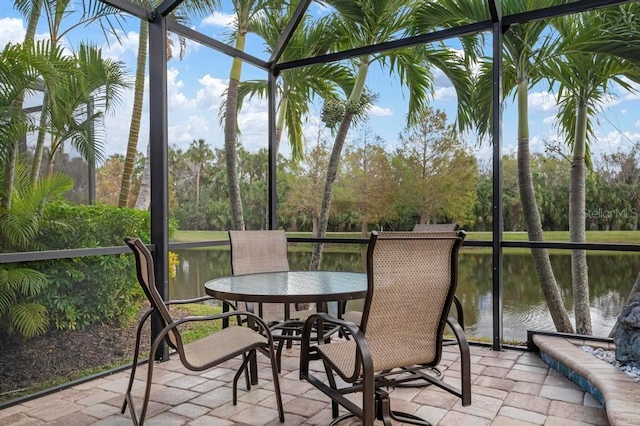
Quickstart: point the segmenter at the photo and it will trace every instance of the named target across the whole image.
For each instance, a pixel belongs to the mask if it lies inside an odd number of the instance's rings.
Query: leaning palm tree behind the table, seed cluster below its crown
[[[374,45],[394,40],[399,33],[407,29],[410,17],[414,12],[411,8],[414,2],[410,0],[330,0],[326,3],[338,12],[338,16],[331,25],[334,31],[341,36],[339,43],[341,48]],[[353,61],[356,69],[356,81],[346,104],[341,105],[336,114],[335,111],[330,111],[331,105],[335,105],[335,103],[325,102],[325,110],[323,111],[325,118],[329,116],[336,118],[334,124],[337,130],[327,169],[318,233],[314,234],[314,237],[326,235],[333,183],[336,180],[345,139],[354,119],[367,109],[372,100],[371,95],[367,94],[365,89],[370,65],[379,63],[381,67],[388,69],[390,74],[397,74],[401,77],[401,82],[409,90],[407,121],[408,124],[413,124],[427,105],[428,88],[432,85],[433,80],[429,65],[434,65],[444,71],[456,87],[463,87],[461,83],[466,80],[466,74],[459,62],[455,53],[445,49],[432,49],[428,46],[365,55]],[[458,92],[459,99],[463,100],[464,97],[463,92]],[[458,118],[464,119],[461,115]],[[325,122],[333,127],[328,120]],[[322,249],[322,244],[314,245],[311,269],[317,269],[320,266]]]

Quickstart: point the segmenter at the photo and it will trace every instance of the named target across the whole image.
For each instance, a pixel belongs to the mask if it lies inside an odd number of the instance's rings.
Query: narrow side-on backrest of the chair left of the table
[[[140,283],[144,294],[147,296],[147,299],[149,299],[151,307],[160,314],[165,326],[171,324],[173,322],[173,318],[171,318],[171,314],[155,286],[153,257],[151,256],[151,252],[139,238],[126,237],[124,242],[131,248],[131,251],[133,251],[136,258],[138,283]],[[176,330],[172,330],[167,334],[168,343],[174,349],[177,347],[178,342],[181,341],[177,334]]]

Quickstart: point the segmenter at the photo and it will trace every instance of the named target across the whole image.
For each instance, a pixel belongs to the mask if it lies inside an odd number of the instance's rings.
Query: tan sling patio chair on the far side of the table
[[[231,230],[229,231],[229,242],[231,244],[231,271],[233,275],[289,271],[287,236],[282,229]],[[242,304],[239,307],[242,307]],[[252,309],[249,308],[249,310]],[[271,325],[273,331],[278,330],[273,335],[274,339],[278,341],[278,371],[280,371],[283,343],[290,348],[293,340],[299,340],[303,325],[301,320],[315,312],[315,309],[299,309],[299,306],[293,303],[258,304],[258,315]]]

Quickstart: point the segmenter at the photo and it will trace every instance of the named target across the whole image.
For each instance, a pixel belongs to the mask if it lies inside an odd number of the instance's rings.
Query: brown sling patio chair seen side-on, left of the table
[[[230,306],[232,309],[232,311],[230,312],[208,316],[190,316],[174,320],[169,313],[168,305],[196,303],[202,302],[204,300],[211,300],[211,298],[205,296],[196,299],[172,300],[169,302],[165,302],[154,285],[153,258],[151,256],[151,253],[144,245],[144,243],[138,238],[127,237],[125,238],[125,242],[131,248],[133,254],[135,255],[138,282],[142,287],[145,295],[149,299],[151,309],[149,309],[143,315],[143,317],[140,319],[140,323],[138,324],[136,345],[133,355],[133,366],[131,368],[131,377],[129,378],[129,386],[127,387],[127,392],[125,394],[124,403],[122,404],[121,413],[124,414],[128,405],[133,423],[135,425],[142,425],[144,423],[147,414],[147,407],[149,405],[149,394],[151,392],[153,367],[155,365],[153,356],[160,344],[165,341],[169,345],[169,347],[171,347],[178,353],[182,365],[191,371],[207,370],[224,361],[235,358],[238,355],[242,355],[242,364],[233,378],[233,405],[237,404],[238,379],[240,378],[240,375],[243,371],[245,372],[247,390],[251,389],[251,384],[249,383],[249,378],[246,373],[247,363],[250,359],[252,359],[252,357],[256,356],[256,350],[259,350],[261,353],[268,356],[271,360],[273,385],[276,394],[278,414],[280,422],[284,422],[284,412],[282,409],[282,397],[280,394],[280,384],[278,381],[276,354],[273,345],[273,338],[271,336],[269,327],[264,323],[264,321],[262,321],[262,319],[260,319],[258,316],[253,315],[249,312],[235,310],[235,306],[233,305]],[[223,303],[229,302],[223,301]],[[164,328],[151,344],[142,410],[140,411],[140,415],[137,416],[136,408],[133,403],[133,397],[131,395],[131,389],[133,387],[136,366],[138,364],[142,329],[152,313],[158,314]],[[182,326],[183,324],[186,325],[189,323],[202,321],[217,321],[222,323],[223,320],[228,320],[230,317],[235,317],[236,323],[240,325],[233,325],[227,328],[223,328],[218,332],[210,334],[189,344],[183,343],[180,332],[180,326]],[[241,325],[243,322],[248,323],[248,325],[251,327],[243,327]]]

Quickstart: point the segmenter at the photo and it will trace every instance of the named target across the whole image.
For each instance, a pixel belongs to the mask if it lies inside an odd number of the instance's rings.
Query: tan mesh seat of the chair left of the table
[[[196,368],[247,352],[256,344],[268,345],[267,338],[247,327],[231,326],[184,345],[187,362]]]

